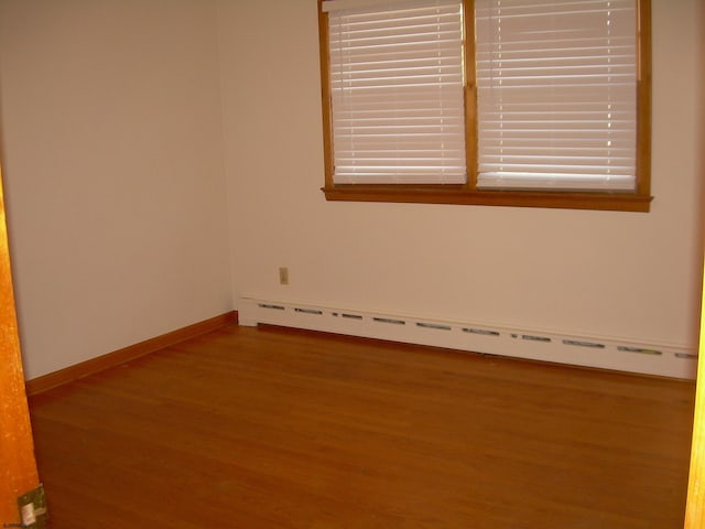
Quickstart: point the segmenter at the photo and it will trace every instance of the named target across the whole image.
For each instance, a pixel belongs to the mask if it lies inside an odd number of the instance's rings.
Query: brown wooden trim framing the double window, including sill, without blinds
[[[474,0],[460,0],[465,13]],[[475,61],[465,62],[465,184],[335,184],[332,141],[332,97],[328,66],[328,19],[318,0],[318,39],[323,104],[323,148],[327,201],[459,204],[567,209],[650,210],[651,201],[651,1],[637,2],[637,185],[633,192],[516,191],[477,188],[477,89]],[[465,56],[475,57],[475,23],[465,17]]]

